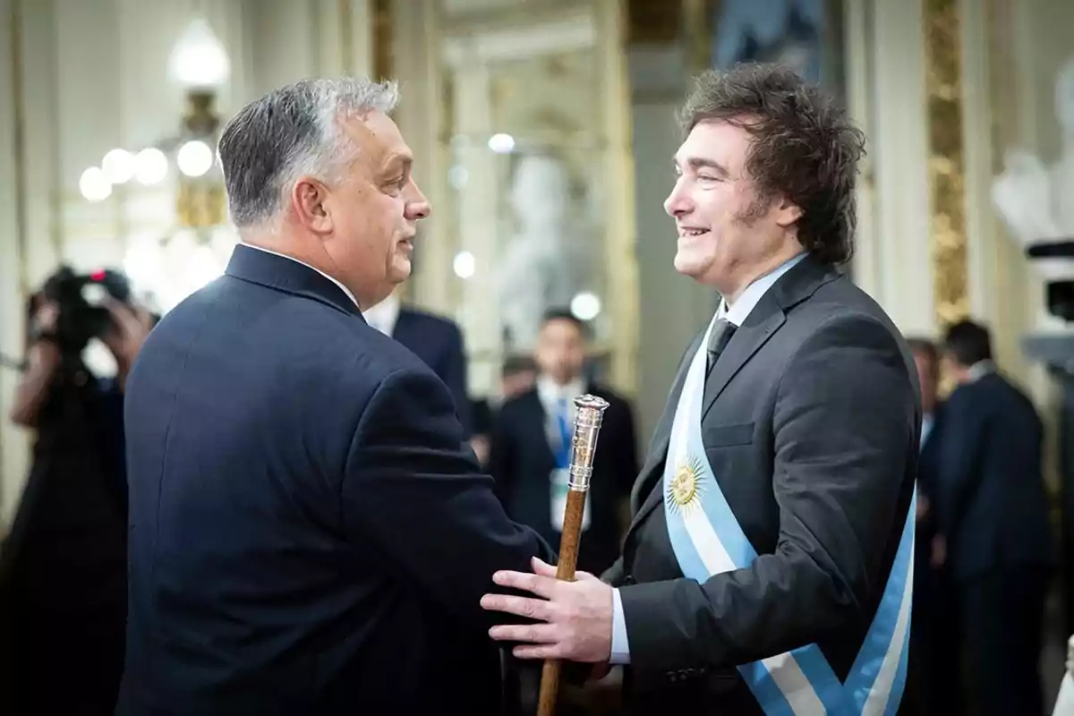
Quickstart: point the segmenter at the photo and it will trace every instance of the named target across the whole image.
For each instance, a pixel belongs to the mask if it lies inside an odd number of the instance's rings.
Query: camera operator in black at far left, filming
[[[95,303],[86,287],[103,291]],[[31,301],[11,419],[37,433],[3,551],[15,713],[112,714],[127,615],[122,389],[153,318],[118,274],[63,268]],[[115,378],[82,355],[99,338]]]

